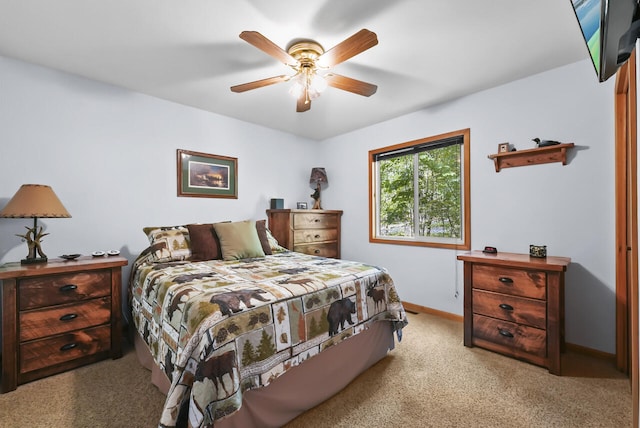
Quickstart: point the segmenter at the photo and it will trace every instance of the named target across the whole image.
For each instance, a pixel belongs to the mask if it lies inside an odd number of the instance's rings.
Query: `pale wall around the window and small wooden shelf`
[[[323,206],[344,210],[343,257],[386,266],[405,301],[462,315],[458,252],[368,242],[367,154],[470,128],[472,248],[527,253],[545,244],[549,255],[571,257],[567,341],[614,353],[613,83],[579,62],[323,142],[334,183]],[[534,137],[575,143],[569,164],[495,172],[487,155],[499,143],[533,148]]]

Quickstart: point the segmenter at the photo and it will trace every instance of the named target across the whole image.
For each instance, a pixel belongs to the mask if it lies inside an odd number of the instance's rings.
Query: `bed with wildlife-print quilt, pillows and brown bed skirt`
[[[161,427],[282,426],[402,337],[383,268],[287,251],[264,221],[144,229],[129,303]]]

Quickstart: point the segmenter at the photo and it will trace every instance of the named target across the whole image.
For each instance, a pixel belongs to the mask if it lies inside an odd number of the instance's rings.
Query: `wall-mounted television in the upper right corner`
[[[640,28],[638,0],[571,0],[598,80],[629,58]]]

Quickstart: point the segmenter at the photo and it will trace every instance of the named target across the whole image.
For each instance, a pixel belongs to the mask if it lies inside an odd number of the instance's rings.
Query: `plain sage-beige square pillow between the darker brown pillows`
[[[224,260],[265,256],[260,244],[260,238],[258,238],[255,221],[214,223],[213,228],[220,239],[220,248]]]

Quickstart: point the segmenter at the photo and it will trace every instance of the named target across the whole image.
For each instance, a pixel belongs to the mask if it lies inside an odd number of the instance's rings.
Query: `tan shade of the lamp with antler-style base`
[[[0,217],[68,218],[71,214],[50,186],[23,184],[7,205],[0,210]]]

